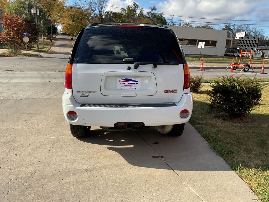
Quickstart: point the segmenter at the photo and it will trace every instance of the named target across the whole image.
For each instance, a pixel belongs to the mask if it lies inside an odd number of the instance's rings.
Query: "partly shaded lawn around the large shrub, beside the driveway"
[[[257,196],[269,202],[269,86],[262,91],[261,105],[244,120],[212,112],[210,88],[206,85],[193,93],[190,123]]]

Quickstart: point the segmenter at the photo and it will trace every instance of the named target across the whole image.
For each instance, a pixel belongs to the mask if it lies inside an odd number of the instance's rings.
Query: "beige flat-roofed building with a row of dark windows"
[[[232,38],[227,38],[227,30],[204,29],[194,27],[168,26],[174,30],[185,55],[224,56],[226,48],[232,47]],[[204,48],[198,48],[199,42],[205,42]]]

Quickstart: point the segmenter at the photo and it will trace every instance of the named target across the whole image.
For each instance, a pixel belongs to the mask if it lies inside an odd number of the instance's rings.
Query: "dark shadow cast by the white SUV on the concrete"
[[[180,137],[160,135],[150,127],[137,132],[91,130],[89,137],[79,140],[112,146],[107,149],[117,152],[133,166],[184,171],[231,170],[190,124]]]

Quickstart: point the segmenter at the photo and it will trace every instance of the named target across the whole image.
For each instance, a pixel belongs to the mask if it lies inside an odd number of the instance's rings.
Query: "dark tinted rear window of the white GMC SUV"
[[[170,30],[147,28],[85,29],[73,63],[121,64],[135,62],[182,64],[182,53]]]

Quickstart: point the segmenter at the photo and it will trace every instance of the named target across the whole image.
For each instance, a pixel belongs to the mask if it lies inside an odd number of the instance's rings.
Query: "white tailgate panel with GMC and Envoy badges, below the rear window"
[[[176,103],[183,94],[183,65],[73,64],[73,95],[78,103]],[[113,68],[112,68],[113,67]],[[114,71],[105,71],[113,69]],[[124,82],[120,82],[124,81]],[[137,82],[136,82],[137,81]],[[133,83],[136,86],[133,87]],[[121,88],[127,85],[126,88]],[[130,87],[129,87],[130,86]],[[172,91],[176,90],[176,91]]]

